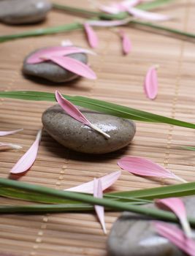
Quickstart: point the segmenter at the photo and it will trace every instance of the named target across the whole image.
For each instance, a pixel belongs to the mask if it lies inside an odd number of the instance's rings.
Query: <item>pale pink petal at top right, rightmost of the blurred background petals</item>
[[[139,10],[137,8],[129,8],[128,12],[134,17],[142,20],[156,20],[156,21],[169,20],[169,17],[167,15],[163,15],[155,12],[146,12],[143,10]]]

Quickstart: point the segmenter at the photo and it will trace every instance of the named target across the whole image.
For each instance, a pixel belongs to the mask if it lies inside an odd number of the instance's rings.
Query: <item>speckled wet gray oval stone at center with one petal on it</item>
[[[136,127],[133,121],[91,110],[81,111],[92,124],[109,134],[110,139],[67,115],[59,105],[45,110],[42,114],[42,124],[58,143],[88,154],[116,151],[127,146],[134,138]]]

